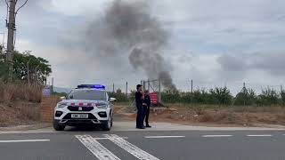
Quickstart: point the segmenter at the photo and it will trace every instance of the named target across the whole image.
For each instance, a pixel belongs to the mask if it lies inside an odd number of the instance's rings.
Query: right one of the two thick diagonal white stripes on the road
[[[118,147],[125,149],[128,153],[140,160],[159,160],[159,158],[152,156],[141,148],[134,146],[132,143],[118,137],[116,134],[105,134],[105,137],[109,138],[113,143],[118,145]]]

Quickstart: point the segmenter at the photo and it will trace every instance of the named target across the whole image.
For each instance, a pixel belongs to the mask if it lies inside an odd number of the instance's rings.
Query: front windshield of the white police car
[[[68,100],[107,100],[106,92],[100,90],[73,90]]]

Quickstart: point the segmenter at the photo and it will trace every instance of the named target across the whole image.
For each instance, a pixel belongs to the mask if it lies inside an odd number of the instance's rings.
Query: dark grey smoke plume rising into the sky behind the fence
[[[114,0],[102,18],[94,20],[85,35],[87,52],[107,59],[128,58],[130,65],[148,78],[160,78],[168,90],[176,90],[163,55],[169,35],[151,16],[145,1]]]

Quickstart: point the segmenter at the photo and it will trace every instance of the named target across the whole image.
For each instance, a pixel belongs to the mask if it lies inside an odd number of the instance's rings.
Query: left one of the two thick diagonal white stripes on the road
[[[94,138],[90,135],[76,135],[76,137],[99,160],[120,160],[118,156],[115,156],[110,152],[110,150],[103,147],[101,143],[99,143],[97,140],[94,140]]]

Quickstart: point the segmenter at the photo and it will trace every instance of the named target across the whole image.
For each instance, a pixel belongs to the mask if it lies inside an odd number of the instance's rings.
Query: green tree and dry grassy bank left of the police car
[[[47,60],[14,52],[13,69],[9,74],[4,54],[0,53],[0,127],[39,120],[42,89],[51,72]]]

